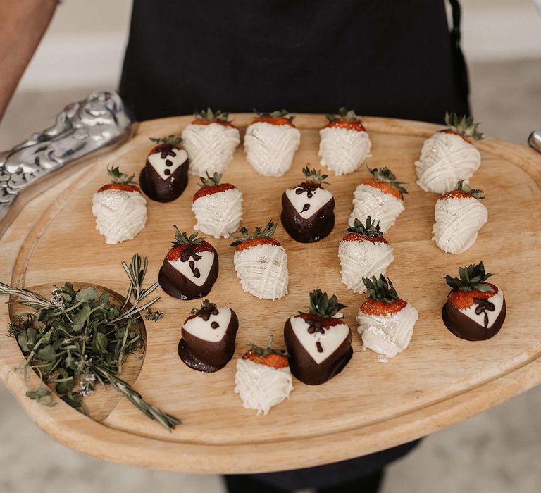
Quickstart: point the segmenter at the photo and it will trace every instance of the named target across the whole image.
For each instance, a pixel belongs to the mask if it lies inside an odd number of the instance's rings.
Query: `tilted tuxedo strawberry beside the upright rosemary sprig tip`
[[[180,299],[206,296],[218,277],[218,253],[197,232],[187,235],[175,226],[175,241],[158,275],[167,294]]]

